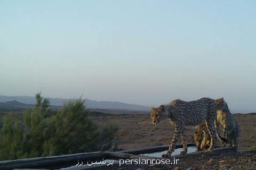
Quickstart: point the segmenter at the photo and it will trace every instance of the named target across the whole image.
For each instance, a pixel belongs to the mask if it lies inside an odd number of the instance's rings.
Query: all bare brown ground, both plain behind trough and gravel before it
[[[90,116],[100,126],[108,123],[118,124],[119,147],[125,150],[168,145],[174,132],[173,126],[167,120],[154,126],[149,114],[110,115],[94,113]],[[250,151],[251,147],[256,145],[256,114],[235,114],[234,117],[241,128],[237,153],[223,152],[218,155],[188,156],[181,159],[178,165],[155,167],[154,169],[256,169],[256,152]],[[187,142],[194,142],[195,127],[187,126],[185,131]],[[118,169],[153,168],[148,165],[126,165]]]

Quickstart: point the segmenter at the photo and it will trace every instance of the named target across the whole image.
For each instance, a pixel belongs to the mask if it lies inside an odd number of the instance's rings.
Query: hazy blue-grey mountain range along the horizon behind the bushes
[[[69,99],[49,98],[51,105],[61,107]],[[31,96],[2,96],[0,95],[0,106],[2,107],[33,107],[36,103],[35,97]],[[92,109],[125,109],[131,111],[149,111],[149,107],[126,104],[118,101],[96,101],[85,99],[85,105]]]

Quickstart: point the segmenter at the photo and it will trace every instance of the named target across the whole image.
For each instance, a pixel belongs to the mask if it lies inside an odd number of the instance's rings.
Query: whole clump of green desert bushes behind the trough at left
[[[81,98],[69,100],[52,115],[50,100],[36,95],[34,108],[26,109],[23,122],[3,121],[0,159],[41,157],[113,149],[117,126],[99,129],[88,117]]]

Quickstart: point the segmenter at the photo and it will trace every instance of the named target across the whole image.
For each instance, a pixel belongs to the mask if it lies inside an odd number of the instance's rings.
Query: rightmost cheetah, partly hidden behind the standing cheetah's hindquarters
[[[237,149],[239,143],[239,124],[230,113],[226,101],[222,98],[215,100],[217,104],[217,119],[218,123],[223,126],[223,136],[226,137],[230,146]],[[222,143],[222,146],[226,146],[226,142]]]

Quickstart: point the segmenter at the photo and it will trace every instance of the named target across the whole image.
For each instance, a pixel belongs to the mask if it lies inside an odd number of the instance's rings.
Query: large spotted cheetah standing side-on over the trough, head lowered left
[[[154,125],[160,122],[161,118],[168,118],[175,126],[175,132],[171,145],[166,154],[162,157],[170,157],[175,149],[178,138],[181,138],[183,151],[180,154],[187,154],[187,143],[185,140],[185,125],[201,125],[205,123],[211,137],[211,152],[216,141],[214,121],[217,120],[217,106],[211,98],[201,98],[194,101],[173,100],[170,104],[161,105],[158,108],[151,107],[151,118]]]

